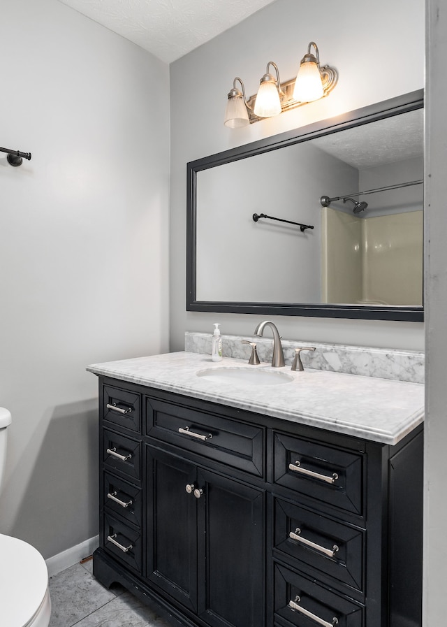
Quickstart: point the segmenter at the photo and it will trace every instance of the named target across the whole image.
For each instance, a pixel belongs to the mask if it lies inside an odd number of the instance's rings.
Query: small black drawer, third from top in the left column
[[[103,507],[137,527],[141,526],[141,490],[131,484],[104,473]]]

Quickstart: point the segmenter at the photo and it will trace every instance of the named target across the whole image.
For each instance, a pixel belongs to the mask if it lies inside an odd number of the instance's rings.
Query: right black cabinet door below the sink
[[[198,470],[198,616],[212,627],[264,625],[264,493]]]

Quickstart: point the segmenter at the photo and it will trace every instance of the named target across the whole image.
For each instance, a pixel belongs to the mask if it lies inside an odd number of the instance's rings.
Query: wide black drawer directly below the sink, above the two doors
[[[263,428],[147,398],[147,435],[263,476]]]

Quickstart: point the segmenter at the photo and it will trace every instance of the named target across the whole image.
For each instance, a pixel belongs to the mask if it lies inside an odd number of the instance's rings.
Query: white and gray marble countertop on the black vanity
[[[293,381],[261,386],[196,376],[204,368],[229,366],[284,372]],[[290,366],[247,366],[247,360],[228,357],[214,363],[209,355],[191,352],[96,363],[87,370],[390,445],[402,440],[424,417],[423,384],[376,377],[310,369],[293,373]]]

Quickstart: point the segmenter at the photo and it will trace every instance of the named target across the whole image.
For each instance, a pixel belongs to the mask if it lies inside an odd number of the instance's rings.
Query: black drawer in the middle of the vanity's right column
[[[364,589],[365,531],[274,499],[274,551],[288,561],[332,577],[331,585]],[[293,563],[295,567],[295,563]],[[318,575],[316,572],[316,575]],[[349,591],[351,593],[351,591]]]

